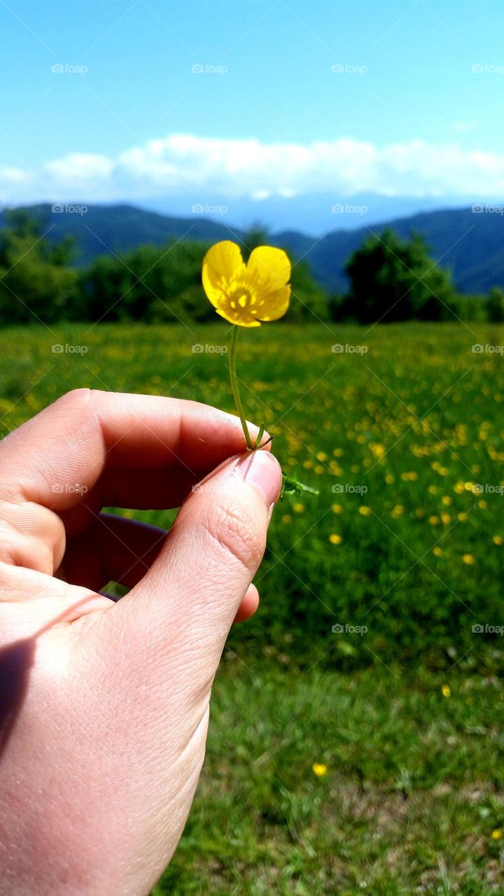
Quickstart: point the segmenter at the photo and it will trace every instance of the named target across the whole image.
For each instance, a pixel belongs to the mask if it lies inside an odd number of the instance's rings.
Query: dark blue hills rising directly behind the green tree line
[[[58,241],[71,235],[78,248],[78,263],[88,263],[96,255],[120,254],[135,246],[151,243],[163,246],[169,239],[199,239],[217,242],[239,240],[243,232],[195,214],[191,218],[172,218],[132,205],[90,205],[81,215],[69,211],[53,212],[50,205],[32,206],[51,228],[49,237]],[[3,215],[0,212],[0,226]],[[463,293],[487,292],[492,286],[504,287],[504,216],[471,209],[430,211],[352,230],[333,230],[321,239],[297,231],[282,231],[269,237],[274,246],[284,246],[291,254],[306,259],[314,276],[330,292],[346,287],[344,263],[362,241],[385,227],[409,237],[421,233],[433,258],[451,269],[456,288]]]

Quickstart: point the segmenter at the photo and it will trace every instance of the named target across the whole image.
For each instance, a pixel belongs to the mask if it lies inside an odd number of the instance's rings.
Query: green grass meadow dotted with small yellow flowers
[[[83,385],[232,412],[225,324],[53,329],[0,334],[2,435]],[[504,327],[240,340],[248,418],[319,495],[275,510],[156,893],[504,892]]]

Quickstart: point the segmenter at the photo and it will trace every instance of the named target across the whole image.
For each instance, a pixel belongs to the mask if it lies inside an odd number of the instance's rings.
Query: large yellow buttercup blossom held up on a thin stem
[[[258,246],[245,264],[239,246],[216,243],[204,256],[203,288],[217,314],[240,327],[276,321],[291,298],[291,262],[282,249]]]

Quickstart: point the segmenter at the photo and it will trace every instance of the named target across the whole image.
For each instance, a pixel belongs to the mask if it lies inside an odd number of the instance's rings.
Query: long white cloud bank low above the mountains
[[[458,129],[472,124],[460,122]],[[72,152],[39,171],[0,168],[4,202],[197,198],[202,193],[260,200],[363,192],[495,198],[504,194],[504,154],[467,151],[455,140],[378,147],[351,137],[301,145],[170,134],[131,147],[117,159]]]

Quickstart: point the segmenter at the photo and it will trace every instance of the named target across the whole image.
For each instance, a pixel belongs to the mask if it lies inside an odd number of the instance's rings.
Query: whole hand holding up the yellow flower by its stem
[[[281,487],[244,449],[218,410],[87,389],[0,444],[2,896],[137,896],[167,866]],[[179,504],[168,534],[100,513]]]

